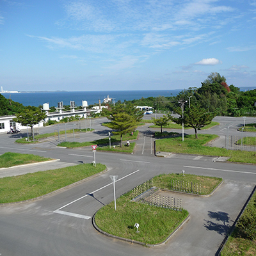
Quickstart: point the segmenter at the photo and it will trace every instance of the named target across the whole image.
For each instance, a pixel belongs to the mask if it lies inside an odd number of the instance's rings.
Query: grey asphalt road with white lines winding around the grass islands
[[[221,125],[200,132],[225,134],[227,125],[243,124],[243,118],[219,119],[217,122]],[[95,132],[86,134],[81,140],[107,136],[108,129],[100,126],[100,122],[104,119],[95,121]],[[50,132],[51,129],[54,127],[42,128],[40,132]],[[106,164],[107,172],[39,200],[1,205],[0,255],[215,255],[255,186],[255,165],[214,162],[213,157],[155,157],[150,129],[145,125],[140,131],[142,135],[134,154],[96,153],[97,163]],[[237,129],[232,132],[236,134]],[[58,148],[56,141],[19,145],[14,143],[15,140],[13,136],[1,134],[0,154],[12,151],[60,159],[49,164],[49,168],[93,161],[92,148]],[[28,172],[40,168],[28,166]],[[120,196],[160,173],[180,173],[181,170],[185,170],[185,174],[223,177],[225,182],[209,198],[184,197],[183,207],[191,213],[191,218],[168,243],[145,248],[103,236],[93,228],[93,214],[113,201],[109,175],[118,175],[116,196]],[[1,172],[3,170],[0,175]],[[10,175],[15,175],[20,168],[12,168],[11,172]]]

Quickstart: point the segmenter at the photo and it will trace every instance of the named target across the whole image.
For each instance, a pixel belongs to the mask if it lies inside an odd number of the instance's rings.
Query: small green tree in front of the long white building
[[[16,117],[13,118],[13,121],[24,126],[28,125],[31,127],[31,132],[33,132],[33,126],[44,120],[46,116],[46,113],[41,112],[39,108],[28,107],[22,110],[20,113],[17,113]]]

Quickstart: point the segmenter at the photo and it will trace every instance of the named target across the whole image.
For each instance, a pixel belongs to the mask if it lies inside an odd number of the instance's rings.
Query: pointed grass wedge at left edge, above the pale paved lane
[[[41,156],[31,155],[31,154],[20,154],[6,152],[0,156],[0,168],[7,168],[11,166],[16,166],[20,164],[31,164],[38,162],[50,161],[51,158],[45,158]]]

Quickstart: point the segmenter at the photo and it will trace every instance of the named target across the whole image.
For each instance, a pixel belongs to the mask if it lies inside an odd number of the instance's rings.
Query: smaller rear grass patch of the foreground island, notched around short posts
[[[207,177],[207,176],[198,176],[192,174],[183,174],[182,173],[170,173],[170,174],[161,174],[157,177],[154,177],[154,186],[161,189],[172,189],[172,180],[179,180],[180,182],[187,182],[191,184],[198,183],[202,186],[201,195],[209,195],[222,181],[221,178],[216,177]]]

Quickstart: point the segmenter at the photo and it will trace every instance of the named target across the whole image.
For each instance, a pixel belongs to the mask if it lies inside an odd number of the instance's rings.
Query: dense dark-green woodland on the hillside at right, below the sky
[[[219,73],[211,73],[200,88],[189,87],[176,96],[148,97],[131,100],[136,106],[150,106],[158,110],[174,111],[179,106],[179,100],[190,99],[194,106],[223,116],[256,116],[256,89],[240,92],[240,89],[230,84]],[[185,106],[186,108],[186,106]]]

